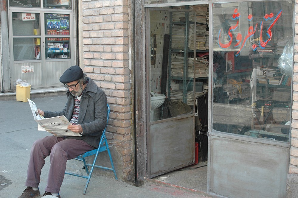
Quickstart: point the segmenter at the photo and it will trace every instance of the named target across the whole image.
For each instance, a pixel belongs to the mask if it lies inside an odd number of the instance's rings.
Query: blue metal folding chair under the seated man
[[[107,120],[107,123],[108,123],[108,121],[109,121],[109,115],[110,115],[110,106],[108,104],[107,104],[107,106],[108,106],[108,120]],[[107,126],[108,126],[108,124],[107,124]],[[84,189],[83,194],[86,194],[87,187],[88,187],[88,184],[89,184],[89,181],[90,181],[90,178],[91,178],[91,175],[92,175],[92,172],[93,172],[94,167],[113,171],[114,172],[114,175],[115,175],[115,179],[118,180],[117,175],[116,175],[116,172],[115,172],[115,168],[114,168],[114,164],[113,164],[111,152],[110,152],[110,149],[109,149],[109,146],[108,146],[107,138],[105,137],[105,130],[106,130],[107,126],[105,126],[105,129],[103,130],[103,134],[101,135],[98,149],[94,149],[94,150],[85,152],[85,153],[83,153],[83,154],[81,154],[81,155],[79,155],[79,156],[77,156],[75,158],[76,160],[83,161],[83,163],[84,163],[84,167],[83,168],[85,168],[88,176],[81,175],[81,174],[75,174],[75,173],[65,172],[65,174],[74,175],[74,176],[77,176],[77,177],[83,177],[83,178],[86,178],[87,179],[87,183],[86,183],[86,186],[85,186],[85,189]],[[103,143],[105,143],[105,144],[103,144]],[[96,159],[97,159],[98,154],[100,152],[103,152],[103,151],[107,151],[108,152],[108,155],[110,157],[112,168],[95,165],[95,162],[96,162]],[[85,158],[88,157],[88,156],[91,156],[91,155],[95,155],[93,164],[86,163]],[[88,166],[91,166],[90,172],[88,172]]]

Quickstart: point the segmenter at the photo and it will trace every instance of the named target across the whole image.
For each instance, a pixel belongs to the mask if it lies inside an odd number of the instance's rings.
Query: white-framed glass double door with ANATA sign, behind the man
[[[72,12],[30,10],[10,8],[11,85],[21,79],[32,88],[60,86],[59,77],[75,64]]]

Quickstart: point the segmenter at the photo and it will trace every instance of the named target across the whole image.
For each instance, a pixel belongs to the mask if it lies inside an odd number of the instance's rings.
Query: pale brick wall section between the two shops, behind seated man
[[[111,107],[107,138],[117,176],[134,179],[134,141],[132,135],[131,70],[129,69],[128,0],[82,0],[84,72],[101,87]],[[108,158],[107,158],[108,159]]]

